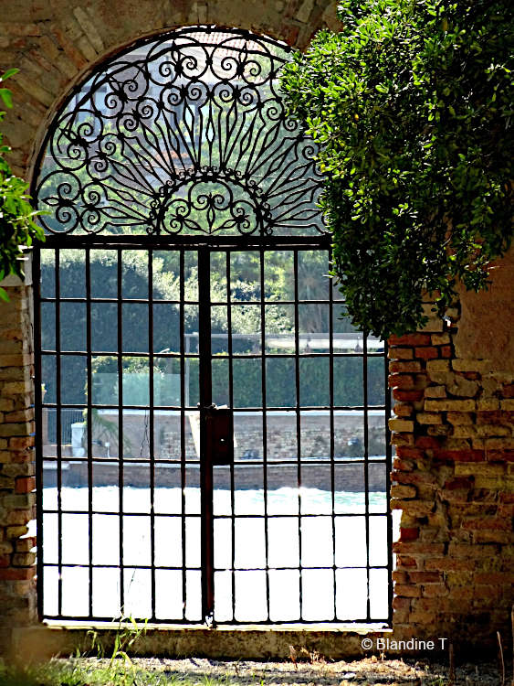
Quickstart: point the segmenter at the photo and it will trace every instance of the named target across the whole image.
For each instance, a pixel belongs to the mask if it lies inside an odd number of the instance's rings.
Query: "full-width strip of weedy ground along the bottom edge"
[[[211,659],[51,659],[23,668],[0,667],[1,686],[498,686],[498,664],[457,666],[402,659],[285,662]]]

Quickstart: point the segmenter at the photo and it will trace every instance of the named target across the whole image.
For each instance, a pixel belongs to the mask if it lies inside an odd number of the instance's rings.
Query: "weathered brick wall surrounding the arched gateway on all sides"
[[[115,11],[114,11],[115,8]],[[0,70],[16,109],[5,134],[10,161],[30,179],[48,123],[69,89],[133,40],[196,23],[239,26],[302,48],[337,28],[330,0],[18,0],[0,17]],[[510,260],[511,266],[512,260]],[[501,274],[509,270],[498,269]],[[512,271],[512,270],[511,270]],[[495,275],[496,283],[497,276]],[[0,304],[0,642],[35,621],[33,384],[30,284],[10,284]],[[396,457],[392,504],[402,510],[395,545],[393,628],[398,637],[449,636],[484,647],[509,637],[514,508],[512,279],[462,298],[448,322],[391,341]],[[426,303],[427,313],[431,305]],[[458,322],[458,327],[457,327]],[[1,647],[0,647],[1,648]]]

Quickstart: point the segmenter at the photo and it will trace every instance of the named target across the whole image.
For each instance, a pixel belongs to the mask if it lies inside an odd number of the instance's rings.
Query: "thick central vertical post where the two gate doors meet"
[[[213,551],[213,463],[207,447],[206,410],[212,400],[211,364],[211,255],[198,249],[198,348],[200,354],[200,487],[202,526],[202,616],[211,621],[215,608]]]

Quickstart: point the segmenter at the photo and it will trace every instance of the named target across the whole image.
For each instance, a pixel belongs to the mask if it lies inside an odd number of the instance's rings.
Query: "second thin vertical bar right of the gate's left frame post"
[[[87,352],[87,459],[88,459],[88,521],[89,521],[89,617],[93,616],[93,408],[92,408],[92,354],[91,354],[91,264],[90,250],[86,248],[86,352]]]

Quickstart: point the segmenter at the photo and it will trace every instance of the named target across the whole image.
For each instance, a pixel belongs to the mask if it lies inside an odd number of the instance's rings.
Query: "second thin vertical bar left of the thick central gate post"
[[[151,585],[152,585],[152,619],[155,618],[155,456],[154,456],[154,415],[153,415],[153,251],[148,251],[148,362],[150,365],[150,417],[149,440],[150,452],[150,549],[151,549]]]

